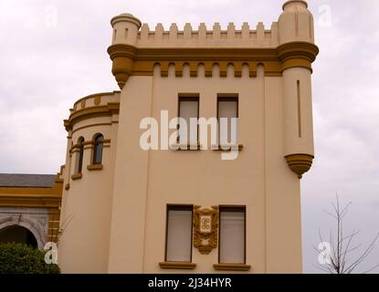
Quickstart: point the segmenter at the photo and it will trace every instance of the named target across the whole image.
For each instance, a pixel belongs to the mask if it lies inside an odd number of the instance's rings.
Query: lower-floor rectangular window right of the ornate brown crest
[[[246,264],[246,207],[220,207],[218,262]]]

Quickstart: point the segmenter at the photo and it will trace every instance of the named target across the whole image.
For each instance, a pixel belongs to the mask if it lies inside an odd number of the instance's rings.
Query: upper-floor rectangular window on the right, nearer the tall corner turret
[[[234,118],[234,119],[233,119]],[[217,97],[218,143],[237,145],[238,98]]]

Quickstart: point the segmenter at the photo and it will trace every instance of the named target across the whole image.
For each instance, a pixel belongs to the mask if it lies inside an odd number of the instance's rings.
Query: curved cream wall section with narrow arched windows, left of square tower
[[[75,102],[65,127],[68,149],[59,242],[65,273],[105,273],[108,263],[120,92],[90,95]],[[101,161],[94,161],[95,137],[103,136]],[[78,171],[79,138],[83,138]]]

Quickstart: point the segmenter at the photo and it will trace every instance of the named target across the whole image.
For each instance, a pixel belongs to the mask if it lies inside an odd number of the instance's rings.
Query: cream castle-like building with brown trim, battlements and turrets
[[[64,121],[60,226],[44,227],[62,271],[301,273],[319,52],[307,3],[287,1],[270,29],[151,30],[130,14],[111,26],[121,91],[79,99]],[[0,216],[17,213],[11,189],[0,175]]]

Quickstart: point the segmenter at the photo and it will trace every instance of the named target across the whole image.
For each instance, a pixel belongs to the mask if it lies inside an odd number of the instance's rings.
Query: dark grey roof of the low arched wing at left
[[[0,187],[39,187],[54,185],[55,174],[15,174],[0,173]]]

